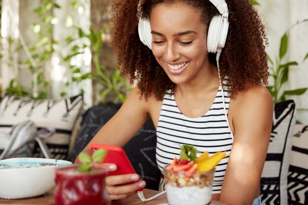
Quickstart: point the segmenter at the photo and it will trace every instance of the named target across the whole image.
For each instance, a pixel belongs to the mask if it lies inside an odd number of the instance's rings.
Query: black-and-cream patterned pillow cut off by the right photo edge
[[[308,125],[295,125],[288,176],[288,203],[308,205]]]

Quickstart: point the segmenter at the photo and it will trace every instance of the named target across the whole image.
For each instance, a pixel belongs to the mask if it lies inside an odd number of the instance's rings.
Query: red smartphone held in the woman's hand
[[[124,174],[136,174],[133,166],[131,165],[125,151],[121,146],[113,145],[102,145],[102,144],[92,144],[90,146],[92,152],[95,149],[106,149],[108,150],[103,163],[113,163],[117,165],[117,170],[108,173],[108,176],[111,175],[124,175]],[[131,182],[134,183],[134,182]],[[130,183],[125,183],[130,184]],[[143,188],[138,189],[137,191],[142,191]]]

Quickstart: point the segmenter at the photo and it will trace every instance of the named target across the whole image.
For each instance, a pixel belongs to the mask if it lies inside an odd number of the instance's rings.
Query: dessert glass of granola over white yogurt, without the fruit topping
[[[185,171],[164,168],[169,205],[209,205],[212,198],[214,170],[185,176]]]

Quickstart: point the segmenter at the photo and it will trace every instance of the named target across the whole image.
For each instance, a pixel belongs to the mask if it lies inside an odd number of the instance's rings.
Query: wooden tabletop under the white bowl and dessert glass
[[[145,195],[145,198],[150,198],[159,192],[150,189],[144,189],[143,193]],[[137,194],[134,194],[126,199],[113,201],[111,205],[159,205],[159,204],[167,205],[167,199],[165,194],[149,202],[142,202],[137,196]],[[54,190],[48,192],[44,196],[30,198],[30,199],[11,199],[11,200],[0,199],[0,205],[55,205]],[[212,201],[211,205],[230,205],[230,204]]]

